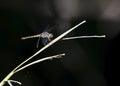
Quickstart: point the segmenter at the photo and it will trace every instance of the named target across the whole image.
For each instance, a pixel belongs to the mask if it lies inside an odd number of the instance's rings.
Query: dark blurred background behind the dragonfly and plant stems
[[[49,26],[55,38],[86,20],[67,37],[106,35],[106,38],[59,41],[32,61],[66,53],[64,58],[33,65],[11,79],[22,82],[22,86],[114,85],[120,57],[119,3],[119,0],[0,0],[0,80],[43,47],[40,41],[36,49],[37,39],[22,41],[21,37],[42,33]]]

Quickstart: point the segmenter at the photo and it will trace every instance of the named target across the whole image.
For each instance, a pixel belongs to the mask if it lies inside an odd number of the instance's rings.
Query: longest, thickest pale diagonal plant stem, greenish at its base
[[[70,33],[71,31],[73,31],[75,28],[77,28],[78,26],[82,25],[83,23],[85,23],[86,21],[82,21],[81,23],[77,24],[76,26],[70,28],[69,30],[67,30],[66,32],[64,32],[63,34],[61,34],[60,36],[58,36],[57,38],[55,38],[54,40],[52,40],[51,42],[49,42],[46,46],[44,46],[43,48],[41,48],[40,50],[38,50],[35,54],[33,54],[32,56],[30,56],[28,59],[26,59],[25,61],[23,61],[21,64],[19,64],[16,68],[14,68],[1,82],[0,82],[0,86],[3,86],[8,80],[9,78],[11,78],[13,76],[13,74],[15,73],[15,71],[20,68],[23,64],[25,64],[26,62],[28,62],[29,60],[31,60],[33,57],[35,57],[36,55],[38,55],[39,53],[41,53],[42,51],[44,51],[45,49],[47,49],[48,47],[50,47],[51,45],[53,45],[54,43],[56,43],[57,41],[59,41],[61,38],[63,38],[64,36],[66,36],[68,33]]]

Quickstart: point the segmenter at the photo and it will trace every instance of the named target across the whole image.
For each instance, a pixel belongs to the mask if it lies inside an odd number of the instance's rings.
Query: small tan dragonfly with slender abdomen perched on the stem
[[[22,37],[21,39],[22,40],[26,40],[26,39],[38,38],[37,44],[36,44],[36,48],[38,48],[40,39],[41,39],[43,45],[46,45],[46,44],[48,44],[51,41],[51,39],[53,38],[53,34],[49,33],[49,32],[50,32],[50,29],[48,29],[48,27],[47,27],[47,29],[45,29],[40,34]]]

